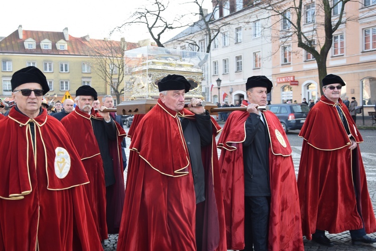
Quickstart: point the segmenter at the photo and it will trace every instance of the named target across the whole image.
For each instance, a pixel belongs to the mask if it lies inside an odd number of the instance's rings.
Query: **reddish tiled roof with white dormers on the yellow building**
[[[88,48],[100,48],[105,40],[87,39],[88,36],[76,38],[69,36],[66,41],[63,32],[47,31],[27,31],[23,30],[23,39],[19,39],[18,30],[0,41],[0,53],[20,53],[20,54],[51,54],[51,55],[88,55]],[[32,38],[36,41],[35,49],[25,48],[25,40]],[[48,39],[52,42],[52,48],[44,50],[41,48],[41,41]],[[58,50],[56,43],[60,40],[67,42],[67,50]],[[120,41],[113,41],[120,45]],[[102,44],[102,46],[101,46]],[[137,43],[127,42],[127,50],[139,47]]]

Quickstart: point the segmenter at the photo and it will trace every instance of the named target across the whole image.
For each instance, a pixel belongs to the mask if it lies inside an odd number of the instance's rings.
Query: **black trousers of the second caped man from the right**
[[[245,197],[244,250],[268,250],[269,196]]]

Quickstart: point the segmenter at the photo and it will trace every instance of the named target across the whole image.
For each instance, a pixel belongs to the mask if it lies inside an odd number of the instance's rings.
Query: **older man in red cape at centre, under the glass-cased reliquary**
[[[190,86],[179,75],[163,78],[157,104],[132,133],[117,250],[226,250],[221,129],[201,99],[183,108]]]

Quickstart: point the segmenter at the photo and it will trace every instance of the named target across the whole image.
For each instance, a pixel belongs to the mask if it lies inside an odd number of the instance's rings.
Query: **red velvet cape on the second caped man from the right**
[[[246,106],[244,100],[242,106]],[[279,119],[263,112],[269,137],[269,173],[271,203],[269,216],[269,250],[304,250],[299,197],[291,147]],[[218,148],[225,206],[228,249],[243,249],[244,242],[244,164],[243,142],[248,112],[233,111],[228,117]]]

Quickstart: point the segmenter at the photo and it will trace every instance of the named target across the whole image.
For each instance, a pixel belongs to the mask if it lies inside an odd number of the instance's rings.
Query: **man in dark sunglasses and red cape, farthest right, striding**
[[[303,235],[333,246],[325,236],[350,230],[353,244],[373,243],[376,231],[360,149],[363,142],[339,98],[344,81],[329,74],[320,101],[309,111],[299,136],[304,139],[298,174]]]

